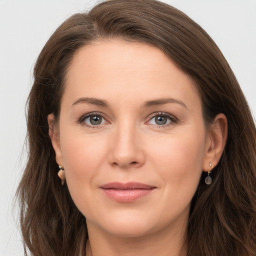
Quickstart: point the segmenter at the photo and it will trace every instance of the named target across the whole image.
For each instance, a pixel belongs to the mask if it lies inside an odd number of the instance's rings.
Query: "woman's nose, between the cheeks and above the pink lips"
[[[140,167],[145,161],[141,142],[135,125],[119,125],[111,137],[108,162],[121,168]]]

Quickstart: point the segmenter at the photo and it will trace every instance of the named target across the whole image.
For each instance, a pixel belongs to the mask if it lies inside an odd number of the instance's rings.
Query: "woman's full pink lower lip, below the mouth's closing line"
[[[136,199],[146,196],[153,191],[149,189],[103,189],[104,193],[111,199],[118,202],[132,202]]]

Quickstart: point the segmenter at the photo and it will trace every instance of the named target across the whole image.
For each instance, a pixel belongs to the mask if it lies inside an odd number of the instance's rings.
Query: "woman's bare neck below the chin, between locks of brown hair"
[[[178,229],[166,226],[146,235],[118,237],[97,230],[95,226],[90,232],[89,224],[86,256],[186,256],[186,226],[187,222]]]

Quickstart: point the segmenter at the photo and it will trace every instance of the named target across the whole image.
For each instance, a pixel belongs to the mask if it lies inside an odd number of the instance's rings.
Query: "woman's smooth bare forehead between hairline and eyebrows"
[[[99,41],[81,47],[66,75],[66,94],[73,99],[96,95],[106,100],[131,95],[134,102],[152,97],[177,97],[190,100],[188,104],[199,100],[192,79],[160,49],[126,41]]]

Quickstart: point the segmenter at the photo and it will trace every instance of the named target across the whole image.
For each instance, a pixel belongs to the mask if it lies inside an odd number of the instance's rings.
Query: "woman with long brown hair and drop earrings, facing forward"
[[[110,0],[68,18],[38,56],[27,125],[32,255],[256,255],[253,118],[179,10]]]

